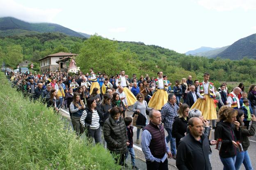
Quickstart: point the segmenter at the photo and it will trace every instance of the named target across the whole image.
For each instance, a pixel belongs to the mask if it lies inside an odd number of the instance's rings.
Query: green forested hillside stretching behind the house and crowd
[[[186,56],[155,45],[117,42],[96,35],[88,40],[59,33],[0,38],[0,62],[5,61],[11,67],[16,67],[25,59],[37,62],[39,58],[59,51],[80,54],[77,63],[83,72],[88,72],[88,68],[92,66],[96,72],[108,75],[125,69],[129,75],[148,73],[156,76],[161,70],[171,81],[175,81],[189,74],[193,79],[200,79],[204,72],[209,72],[211,79],[217,81],[254,82],[256,72],[256,60],[253,59]]]

